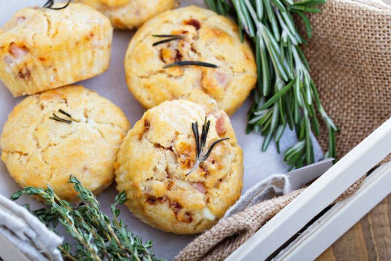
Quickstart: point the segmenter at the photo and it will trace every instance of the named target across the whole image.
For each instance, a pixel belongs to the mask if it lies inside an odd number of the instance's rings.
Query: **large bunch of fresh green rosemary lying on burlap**
[[[319,99],[318,90],[309,74],[309,66],[299,44],[306,44],[299,34],[292,13],[304,21],[308,38],[312,31],[305,12],[319,13],[314,6],[326,0],[205,0],[221,15],[237,18],[240,37],[243,32],[255,45],[258,88],[255,103],[248,113],[247,133],[261,132],[265,136],[262,151],[274,137],[277,150],[286,126],[295,130],[298,143],[284,152],[284,160],[293,168],[314,162],[311,130],[319,135],[317,112],[326,123],[329,149],[326,157],[335,158],[336,126]]]

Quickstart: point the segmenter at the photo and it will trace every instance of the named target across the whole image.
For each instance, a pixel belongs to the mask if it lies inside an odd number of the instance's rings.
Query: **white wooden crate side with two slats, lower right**
[[[391,118],[270,219],[227,260],[255,261],[269,258],[357,179],[390,153]],[[386,163],[373,171],[354,195],[328,210],[298,239],[283,249],[276,259],[311,260],[319,256],[391,193],[390,181],[391,163]]]

